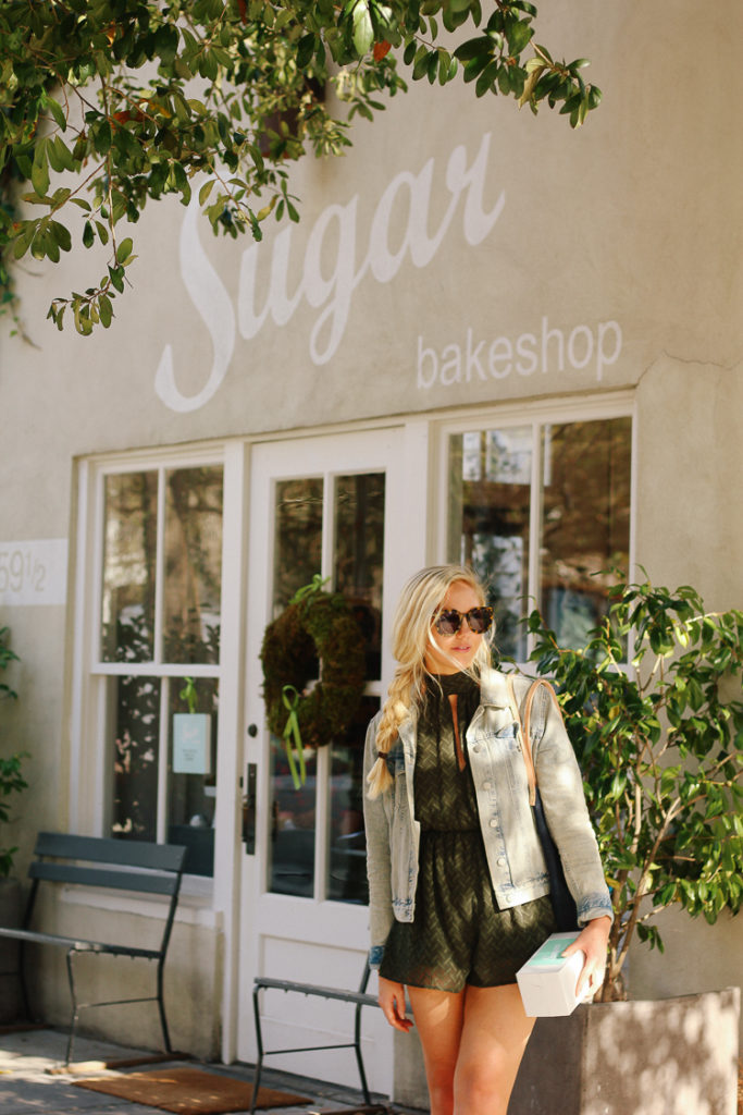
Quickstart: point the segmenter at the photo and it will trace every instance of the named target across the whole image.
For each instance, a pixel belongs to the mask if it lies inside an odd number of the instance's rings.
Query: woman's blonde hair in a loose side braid
[[[431,565],[422,569],[410,578],[400,593],[392,620],[392,655],[398,666],[377,727],[378,758],[366,777],[371,798],[378,797],[392,785],[387,756],[397,739],[400,724],[418,709],[423,699],[426,677],[429,675],[426,655],[432,646],[437,646],[431,631],[431,618],[441,607],[451,585],[460,582],[473,589],[480,603],[485,603],[485,590],[467,565]],[[475,678],[479,678],[480,671],[490,665],[491,640],[492,628],[478,647],[475,660],[467,670]]]

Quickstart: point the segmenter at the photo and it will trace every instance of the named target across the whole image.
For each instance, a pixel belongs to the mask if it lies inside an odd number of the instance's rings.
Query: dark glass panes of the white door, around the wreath
[[[330,568],[327,588],[346,598],[359,623],[369,687],[379,682],[381,668],[384,488],[384,473],[374,471],[280,481],[274,496],[272,618]],[[368,901],[365,871],[358,870],[364,850],[361,767],[366,725],[378,708],[370,692],[343,737],[329,743],[327,762],[306,750],[299,788],[283,739],[271,736],[271,891]]]

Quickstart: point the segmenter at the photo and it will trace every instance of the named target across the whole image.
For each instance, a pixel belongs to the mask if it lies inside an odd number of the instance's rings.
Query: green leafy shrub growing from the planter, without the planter
[[[609,601],[581,650],[529,618],[612,889],[603,999],[623,997],[635,934],[663,948],[661,910],[680,904],[713,923],[743,900],[743,612],[705,613],[693,589],[648,582],[616,585]]]

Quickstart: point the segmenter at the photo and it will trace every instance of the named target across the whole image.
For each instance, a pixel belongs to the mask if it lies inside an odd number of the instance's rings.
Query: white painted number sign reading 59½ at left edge
[[[63,604],[67,539],[0,542],[0,607]]]

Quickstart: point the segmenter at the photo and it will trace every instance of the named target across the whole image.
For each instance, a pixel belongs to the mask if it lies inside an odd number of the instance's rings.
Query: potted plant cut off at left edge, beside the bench
[[[11,662],[18,661],[9,646],[10,632],[7,627],[0,628],[0,670],[6,670]],[[0,681],[0,700],[16,700],[17,694],[10,686]],[[4,740],[0,734],[0,923],[20,925],[22,912],[21,884],[11,879],[16,847],[6,845],[2,836],[2,825],[10,820],[9,797],[26,789],[27,783],[21,773],[22,756],[4,755]],[[13,941],[0,942],[0,1022],[10,1021],[19,1008],[18,979],[18,944]]]

